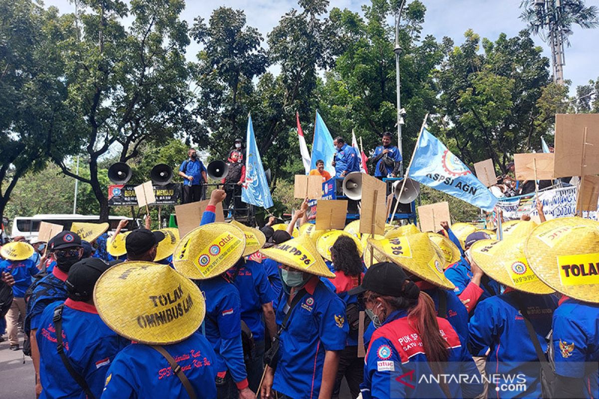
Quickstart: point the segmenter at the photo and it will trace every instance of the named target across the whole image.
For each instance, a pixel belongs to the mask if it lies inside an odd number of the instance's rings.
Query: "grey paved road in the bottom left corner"
[[[6,335],[4,339],[7,339]],[[19,334],[19,343],[23,345],[23,334]],[[0,398],[35,398],[35,373],[31,358],[26,356],[23,359],[23,351],[11,351],[8,346],[8,339],[0,342]]]

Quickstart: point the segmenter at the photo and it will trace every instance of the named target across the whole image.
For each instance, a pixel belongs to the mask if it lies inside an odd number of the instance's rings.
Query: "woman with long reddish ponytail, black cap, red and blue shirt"
[[[434,303],[401,267],[377,263],[362,285],[376,331],[370,340],[362,398],[462,398],[482,392],[480,373],[465,345]]]

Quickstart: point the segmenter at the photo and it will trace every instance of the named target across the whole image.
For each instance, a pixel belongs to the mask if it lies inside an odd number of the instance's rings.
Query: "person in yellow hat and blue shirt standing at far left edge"
[[[11,351],[19,350],[19,316],[26,314],[25,291],[31,285],[31,277],[40,272],[30,258],[33,252],[34,248],[26,242],[9,242],[0,249],[5,258],[0,262],[0,275],[10,273],[14,279],[13,303],[6,315]]]

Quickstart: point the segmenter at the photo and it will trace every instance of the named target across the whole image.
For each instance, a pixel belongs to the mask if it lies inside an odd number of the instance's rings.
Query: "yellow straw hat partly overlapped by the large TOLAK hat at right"
[[[524,257],[524,240],[510,237],[502,241],[479,240],[470,254],[486,275],[515,290],[531,294],[551,294],[554,290],[533,273]]]

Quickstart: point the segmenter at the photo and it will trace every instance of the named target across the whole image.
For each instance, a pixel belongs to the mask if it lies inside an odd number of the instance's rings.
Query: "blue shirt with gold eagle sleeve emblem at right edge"
[[[555,372],[583,378],[586,397],[599,397],[599,304],[574,299],[562,302],[553,312],[552,345]]]

